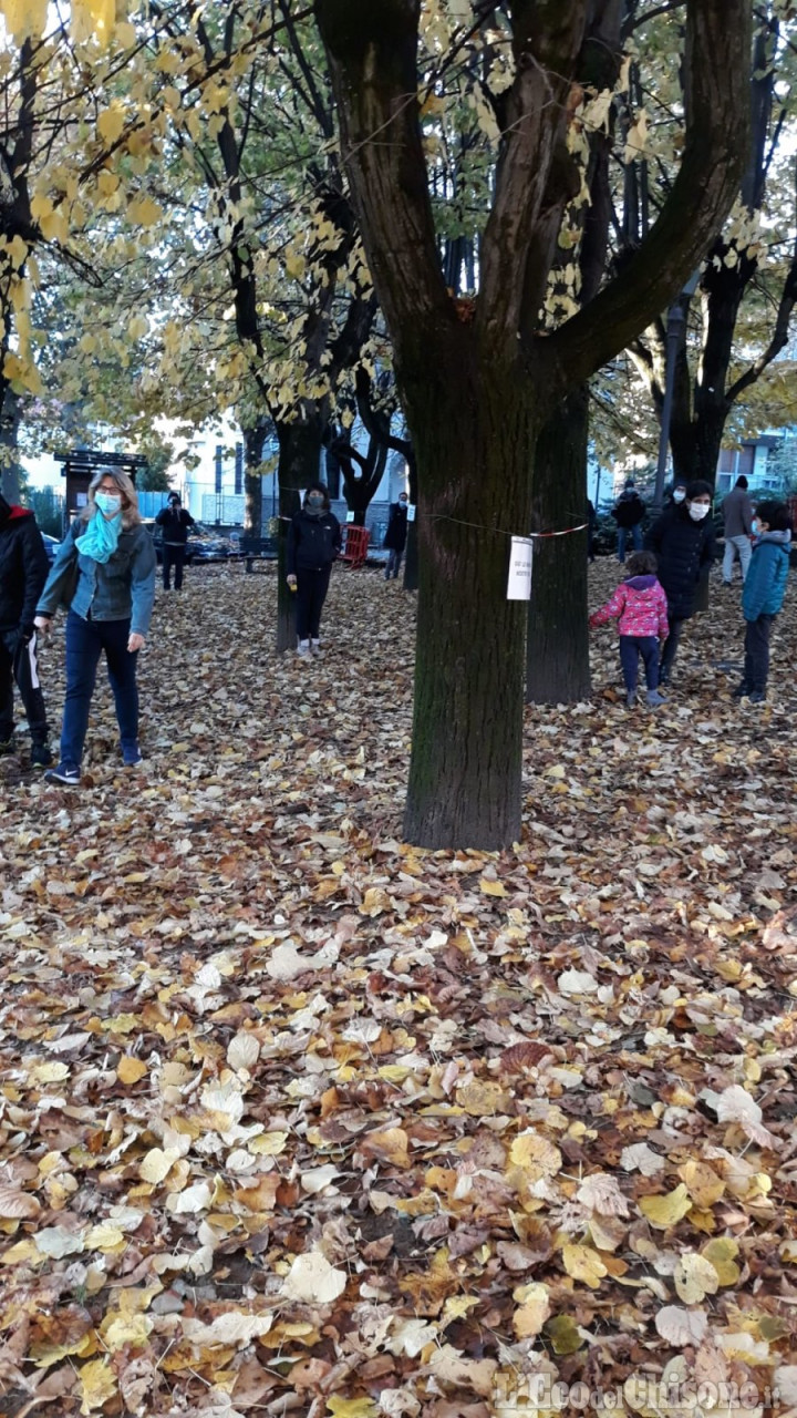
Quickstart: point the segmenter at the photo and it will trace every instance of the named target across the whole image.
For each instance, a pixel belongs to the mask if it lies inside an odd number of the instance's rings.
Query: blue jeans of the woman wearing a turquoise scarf
[[[79,769],[88,729],[88,712],[96,681],[99,657],[105,651],[108,679],[113,691],[122,747],[139,739],[139,692],[136,686],[138,651],[130,655],[129,620],[85,621],[75,611],[67,615],[67,696],[61,727],[61,763]]]

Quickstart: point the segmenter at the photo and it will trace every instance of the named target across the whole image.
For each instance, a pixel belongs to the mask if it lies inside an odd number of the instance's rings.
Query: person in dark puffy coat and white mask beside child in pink
[[[661,657],[662,685],[672,674],[684,625],[695,614],[701,576],[718,557],[710,509],[710,484],[691,482],[685,502],[662,512],[647,537],[647,550],[658,557],[658,579],[667,593],[669,635]]]

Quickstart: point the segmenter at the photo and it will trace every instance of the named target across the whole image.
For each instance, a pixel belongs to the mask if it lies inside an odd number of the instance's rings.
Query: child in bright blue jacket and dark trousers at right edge
[[[783,502],[759,502],[753,519],[756,546],[742,588],[745,678],[735,699],[763,703],[767,696],[770,635],[788,579],[791,519]]]

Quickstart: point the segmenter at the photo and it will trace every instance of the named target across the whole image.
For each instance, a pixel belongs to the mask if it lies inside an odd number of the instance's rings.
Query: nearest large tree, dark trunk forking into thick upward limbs
[[[424,159],[420,0],[315,0],[418,459],[404,832],[433,848],[499,848],[520,834],[526,610],[506,600],[508,535],[529,529],[546,414],[662,309],[725,220],[745,162],[749,0],[688,0],[685,139],[672,191],[624,272],[540,333],[591,9],[589,0],[515,0],[494,13],[506,27],[513,77],[479,291],[462,312],[441,269]]]

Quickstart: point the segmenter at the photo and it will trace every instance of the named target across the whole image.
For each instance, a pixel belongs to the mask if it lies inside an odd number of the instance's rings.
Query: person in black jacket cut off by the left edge
[[[47,552],[33,512],[0,496],[0,754],[14,752],[14,681],[23,700],[31,764],[52,763],[38,682],[35,605],[47,580]]]

